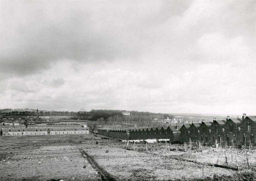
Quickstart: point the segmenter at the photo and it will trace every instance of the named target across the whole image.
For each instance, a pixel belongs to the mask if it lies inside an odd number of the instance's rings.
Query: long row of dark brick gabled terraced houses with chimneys
[[[123,140],[170,139],[173,143],[201,142],[222,145],[256,145],[256,117],[243,114],[242,119],[213,119],[200,124],[183,124],[181,127],[152,127],[139,129],[98,129],[98,134]]]

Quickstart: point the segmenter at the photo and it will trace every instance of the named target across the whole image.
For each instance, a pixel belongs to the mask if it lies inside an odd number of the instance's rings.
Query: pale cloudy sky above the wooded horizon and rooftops
[[[0,8],[0,109],[256,114],[256,1]]]

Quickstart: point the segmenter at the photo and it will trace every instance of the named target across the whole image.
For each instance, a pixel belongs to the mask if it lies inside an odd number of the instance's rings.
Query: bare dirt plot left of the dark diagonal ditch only
[[[100,180],[69,137],[5,138],[0,146],[0,180]]]

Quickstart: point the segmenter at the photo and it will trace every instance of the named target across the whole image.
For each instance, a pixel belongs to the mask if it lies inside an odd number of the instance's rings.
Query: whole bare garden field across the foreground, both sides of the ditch
[[[221,180],[241,178],[247,168],[243,150],[212,148],[189,153],[184,146],[168,147],[165,143],[124,147],[123,142],[94,135],[1,138],[0,180],[104,180],[100,174],[116,180]],[[246,173],[255,172],[254,152],[247,152],[247,158],[250,169]]]

